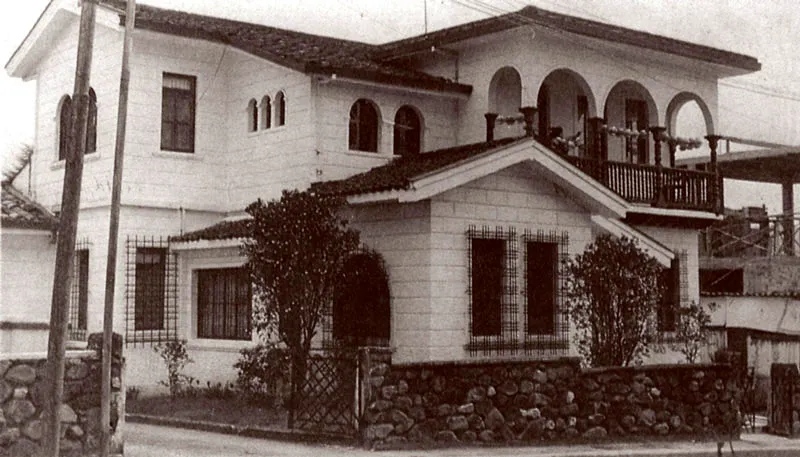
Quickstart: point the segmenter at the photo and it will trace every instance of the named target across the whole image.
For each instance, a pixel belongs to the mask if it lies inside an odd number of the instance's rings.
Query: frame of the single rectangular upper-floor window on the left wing
[[[176,80],[183,80],[189,83],[189,89],[179,89],[167,87],[166,82],[169,78]],[[168,106],[169,102],[177,105],[180,102],[189,103],[190,119],[182,121],[180,119],[173,119],[178,117],[180,107]],[[171,110],[171,118],[167,119],[167,110]],[[183,75],[178,73],[162,73],[161,81],[161,150],[169,152],[180,153],[194,153],[196,146],[196,124],[197,124],[197,77],[192,75]],[[186,136],[189,139],[188,144],[180,144],[179,128],[186,126],[189,129],[189,134]],[[170,140],[167,141],[165,137],[165,129],[169,128]]]

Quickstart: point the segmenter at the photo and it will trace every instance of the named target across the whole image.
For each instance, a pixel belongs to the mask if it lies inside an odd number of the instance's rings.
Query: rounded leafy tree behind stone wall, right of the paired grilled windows
[[[655,341],[663,268],[636,240],[599,236],[566,265],[565,302],[590,366],[640,363]]]

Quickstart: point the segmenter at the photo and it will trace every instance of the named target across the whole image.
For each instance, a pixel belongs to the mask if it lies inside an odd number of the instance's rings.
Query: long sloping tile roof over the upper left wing
[[[102,0],[122,12],[124,2]],[[124,20],[123,20],[124,22]],[[137,5],[136,28],[227,44],[307,74],[470,94],[472,86],[372,59],[375,46],[276,27]]]

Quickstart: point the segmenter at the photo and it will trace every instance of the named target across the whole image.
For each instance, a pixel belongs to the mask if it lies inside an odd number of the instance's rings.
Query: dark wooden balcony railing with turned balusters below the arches
[[[710,212],[722,208],[721,178],[713,173],[576,156],[563,157],[631,203]]]

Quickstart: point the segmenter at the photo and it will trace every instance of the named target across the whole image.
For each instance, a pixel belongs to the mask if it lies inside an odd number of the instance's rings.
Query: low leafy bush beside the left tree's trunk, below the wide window
[[[239,389],[260,403],[283,405],[289,395],[289,351],[259,344],[239,353],[241,357],[233,365],[238,370]]]

